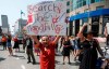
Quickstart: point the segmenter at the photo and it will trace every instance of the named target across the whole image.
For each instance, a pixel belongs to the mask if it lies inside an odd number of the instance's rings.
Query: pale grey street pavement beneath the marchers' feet
[[[2,51],[2,46],[0,45],[0,69],[39,69],[39,56],[35,55],[36,65],[27,64],[26,53],[22,50],[21,52],[14,52],[14,56],[9,56],[9,52]],[[78,64],[73,61],[73,56],[71,55],[71,65],[68,64],[68,59],[65,59],[65,65],[62,65],[62,55],[57,54],[56,56],[56,69],[78,69]]]

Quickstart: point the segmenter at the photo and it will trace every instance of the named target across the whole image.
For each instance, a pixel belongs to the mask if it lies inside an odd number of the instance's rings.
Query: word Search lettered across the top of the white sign
[[[28,14],[35,14],[38,11],[46,11],[46,12],[56,12],[56,13],[61,13],[61,4],[43,4],[43,5],[28,5],[27,10],[28,10]]]

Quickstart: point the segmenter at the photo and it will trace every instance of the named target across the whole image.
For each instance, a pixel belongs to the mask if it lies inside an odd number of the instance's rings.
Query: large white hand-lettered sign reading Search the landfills
[[[26,26],[27,34],[35,36],[65,36],[66,34],[66,4],[61,1],[46,1],[28,5],[28,15],[33,15],[33,23]]]

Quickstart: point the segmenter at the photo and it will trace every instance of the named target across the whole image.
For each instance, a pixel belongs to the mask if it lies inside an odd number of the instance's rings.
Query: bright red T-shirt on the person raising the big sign
[[[50,42],[48,47],[40,43],[40,69],[55,69],[55,43]]]

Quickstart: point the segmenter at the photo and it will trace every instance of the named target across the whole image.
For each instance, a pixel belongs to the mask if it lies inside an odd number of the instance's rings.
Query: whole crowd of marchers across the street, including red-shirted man
[[[87,24],[84,24],[76,37],[69,36],[28,36],[23,37],[23,50],[27,54],[27,64],[35,65],[37,61],[34,52],[39,55],[40,69],[55,69],[55,56],[61,52],[63,56],[62,65],[71,65],[70,55],[73,55],[74,61],[80,63],[78,69],[109,69],[109,55],[104,54],[97,39],[93,37],[93,31],[84,33]],[[105,30],[107,38],[106,44],[109,49],[109,34]],[[9,50],[10,56],[13,56],[13,50],[20,52],[20,42],[17,36],[2,34],[3,50]],[[14,45],[11,44],[14,41]],[[98,56],[98,53],[100,56]]]

